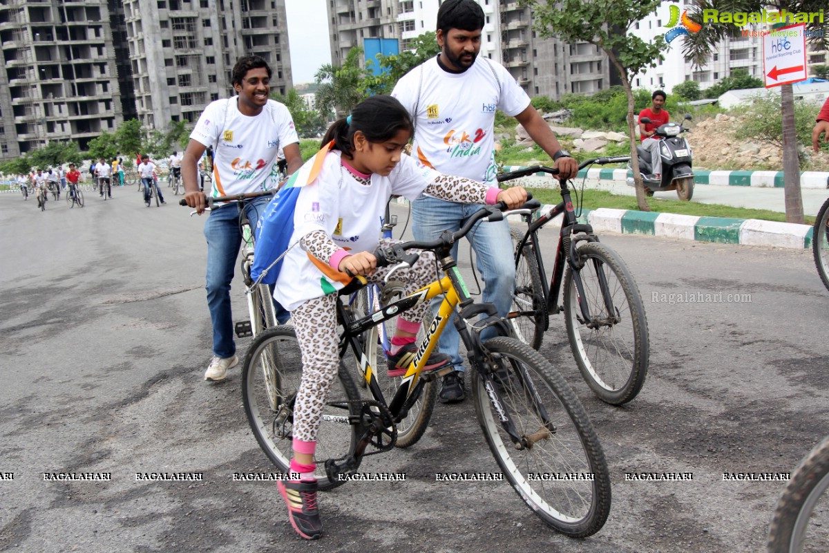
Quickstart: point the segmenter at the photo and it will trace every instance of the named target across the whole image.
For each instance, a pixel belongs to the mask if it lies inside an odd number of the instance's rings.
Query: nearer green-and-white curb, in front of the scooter
[[[548,206],[542,207],[542,210],[545,208]],[[587,220],[596,232],[609,230],[620,234],[667,236],[720,244],[770,245],[798,250],[812,247],[812,226],[778,221],[676,215],[606,207],[589,211]]]

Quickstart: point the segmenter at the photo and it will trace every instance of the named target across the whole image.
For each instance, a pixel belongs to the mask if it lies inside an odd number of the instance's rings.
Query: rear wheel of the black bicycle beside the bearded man
[[[521,244],[524,235],[517,229],[511,229],[510,232],[516,243],[516,288],[512,293],[508,320],[516,337],[534,350],[538,350],[549,324],[541,270],[533,253],[534,246],[527,243],[519,251],[518,245]],[[527,311],[533,311],[534,314],[517,315]]]

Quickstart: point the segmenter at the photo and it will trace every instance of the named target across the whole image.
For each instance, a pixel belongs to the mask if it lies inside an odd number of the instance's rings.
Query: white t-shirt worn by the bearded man
[[[419,163],[444,175],[487,183],[497,174],[495,110],[515,116],[530,105],[530,97],[503,65],[480,56],[463,73],[442,70],[435,56],[397,81],[391,95],[417,118],[412,156]]]

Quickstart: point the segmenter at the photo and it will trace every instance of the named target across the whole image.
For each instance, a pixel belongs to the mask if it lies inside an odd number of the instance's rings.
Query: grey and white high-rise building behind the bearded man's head
[[[332,63],[342,64],[366,37],[396,38],[400,50],[434,31],[438,0],[326,0]],[[500,61],[531,96],[560,99],[608,88],[608,61],[587,43],[542,39],[532,29],[531,10],[518,0],[477,0],[485,17],[480,56]]]

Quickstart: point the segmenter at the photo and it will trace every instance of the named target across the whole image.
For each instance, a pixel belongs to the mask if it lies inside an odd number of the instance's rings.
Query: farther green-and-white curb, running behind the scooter
[[[518,171],[526,167],[508,166],[505,172]],[[532,177],[554,177],[545,172],[537,172]],[[579,171],[579,179],[587,178],[591,184],[602,181],[626,182],[633,177],[628,169],[590,168]],[[520,179],[519,179],[520,180]],[[724,187],[783,187],[782,171],[694,171],[695,184],[711,184]],[[557,187],[557,182],[554,182]],[[829,172],[803,171],[800,173],[801,188],[829,188]]]

